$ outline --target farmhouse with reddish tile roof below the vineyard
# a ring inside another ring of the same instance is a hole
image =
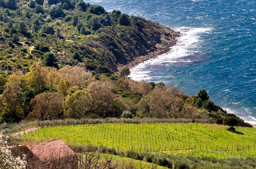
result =
[[[26,155],[27,168],[30,169],[77,169],[77,154],[61,139],[33,145],[8,147],[15,157]]]

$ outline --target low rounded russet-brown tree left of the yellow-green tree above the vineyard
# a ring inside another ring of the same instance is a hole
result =
[[[29,118],[38,120],[59,119],[63,115],[63,95],[58,93],[41,93],[30,101],[33,109]]]

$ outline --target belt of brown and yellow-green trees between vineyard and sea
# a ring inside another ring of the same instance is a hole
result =
[[[178,86],[137,82],[126,76],[98,74],[82,65],[56,70],[35,62],[26,74],[0,76],[0,123],[137,116],[252,127],[215,105],[204,89],[188,97]]]

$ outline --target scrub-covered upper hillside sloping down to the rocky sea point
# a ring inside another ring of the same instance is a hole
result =
[[[2,73],[27,72],[39,60],[58,69],[83,63],[113,72],[117,64],[173,45],[177,36],[158,23],[78,0],[0,1]]]

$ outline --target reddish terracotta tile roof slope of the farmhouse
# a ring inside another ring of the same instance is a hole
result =
[[[49,161],[76,155],[75,152],[61,139],[27,145],[26,147],[41,161]]]

